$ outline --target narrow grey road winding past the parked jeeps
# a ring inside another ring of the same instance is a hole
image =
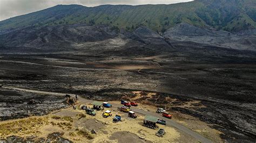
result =
[[[35,90],[35,89],[24,89],[24,88],[17,88],[17,87],[8,87],[8,86],[3,86],[2,88],[6,88],[6,89],[16,89],[16,90],[22,90],[22,91],[27,91],[27,92],[35,92],[38,94],[50,94],[50,95],[66,95],[65,93],[59,93],[59,92],[49,92],[49,91],[41,91],[41,90]],[[75,96],[73,94],[69,94],[71,96]],[[78,96],[79,101],[82,103],[91,103],[93,102],[92,100],[89,99],[85,99],[82,96]],[[120,104],[112,104],[112,108],[117,108],[118,106],[120,106]],[[151,116],[156,116],[161,118],[161,116],[158,113],[155,112],[149,112],[149,111],[144,111],[138,108],[132,108],[133,111],[140,113],[142,115],[151,115]],[[175,120],[171,120],[171,119],[165,119],[166,120],[166,125],[167,126],[172,126],[177,128],[179,131],[184,132],[188,135],[191,135],[193,138],[196,138],[198,141],[200,142],[212,142],[210,139],[207,139],[205,137],[203,137],[203,135],[194,132],[192,130],[190,130],[189,128],[178,124]]]

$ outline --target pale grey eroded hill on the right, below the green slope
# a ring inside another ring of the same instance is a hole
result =
[[[167,30],[165,37],[171,40],[191,41],[219,47],[256,50],[256,30],[245,30],[237,33],[215,31],[181,23]]]

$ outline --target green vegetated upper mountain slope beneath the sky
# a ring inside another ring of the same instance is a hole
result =
[[[198,0],[170,5],[57,5],[0,22],[0,30],[23,26],[110,24],[126,30],[145,25],[154,31],[186,22],[199,27],[239,31],[256,27],[254,0]]]

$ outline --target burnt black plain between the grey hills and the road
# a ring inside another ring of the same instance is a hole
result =
[[[255,137],[254,73],[256,69],[253,63],[242,63],[240,60],[237,63],[213,64],[203,61],[194,63],[189,60],[184,61],[186,57],[171,55],[170,57],[165,55],[152,61],[138,60],[134,57],[71,54],[2,55],[0,84],[70,92],[93,99],[116,100],[123,95],[129,95],[132,90],[164,92],[163,98],[165,96],[181,99],[196,98],[200,99],[207,108],[194,108],[193,110],[201,112],[200,115],[194,116],[219,125],[215,128],[227,133],[224,136],[225,139],[230,139],[228,135],[242,138],[242,141]],[[180,59],[183,60],[180,61]],[[67,60],[70,62],[62,62]],[[156,63],[159,63],[160,67]],[[149,65],[154,68],[141,69],[139,72],[139,69],[117,69],[118,66],[129,65]],[[10,94],[6,94],[5,91],[3,95],[9,98]],[[39,101],[55,99],[53,97],[42,99],[35,95],[32,98]],[[16,99],[1,102],[12,105],[17,104]],[[160,99],[157,102],[165,104]],[[23,105],[21,106],[24,108]],[[44,108],[45,105],[41,107],[42,115],[49,110]],[[173,108],[173,110],[177,109]],[[193,115],[189,110],[183,112]],[[20,116],[17,115],[17,117]]]

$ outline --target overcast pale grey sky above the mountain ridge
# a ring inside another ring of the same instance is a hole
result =
[[[172,4],[192,0],[0,0],[0,20],[43,10],[58,4],[97,6],[103,4]]]

